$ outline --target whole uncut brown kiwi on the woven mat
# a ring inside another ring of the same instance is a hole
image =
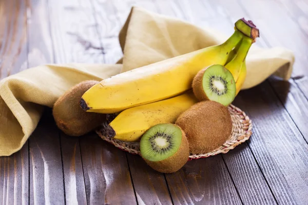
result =
[[[183,112],[176,125],[186,133],[192,154],[204,154],[219,148],[232,133],[232,119],[227,107],[210,100]]]

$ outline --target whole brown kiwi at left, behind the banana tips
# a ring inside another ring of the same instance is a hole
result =
[[[82,95],[99,81],[87,80],[75,85],[56,100],[53,117],[57,127],[70,136],[84,135],[106,120],[105,114],[85,112],[80,107]]]

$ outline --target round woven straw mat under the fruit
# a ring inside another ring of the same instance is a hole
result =
[[[230,135],[229,139],[220,148],[212,152],[204,154],[190,154],[188,160],[205,158],[220,153],[227,153],[229,150],[234,149],[236,146],[249,139],[249,137],[252,135],[252,120],[249,119],[249,117],[241,109],[233,105],[230,105],[228,107],[228,110],[231,115],[233,124],[232,134]],[[118,139],[106,137],[104,135],[104,128],[106,126],[107,124],[104,124],[100,129],[97,130],[98,135],[102,139],[110,142],[112,145],[121,150],[129,152],[131,154],[140,155],[139,142],[125,142]]]

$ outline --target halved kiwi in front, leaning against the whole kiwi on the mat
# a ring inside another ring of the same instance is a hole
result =
[[[181,128],[174,124],[158,124],[142,136],[140,152],[151,168],[162,173],[172,173],[185,165],[189,157],[189,146]]]

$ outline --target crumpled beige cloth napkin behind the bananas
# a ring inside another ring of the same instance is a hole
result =
[[[133,7],[119,34],[124,53],[119,64],[42,65],[0,81],[0,156],[20,150],[36,128],[44,106],[52,107],[73,85],[217,45],[227,37],[211,29],[204,30]],[[273,73],[287,80],[293,63],[294,55],[287,49],[260,49],[253,45],[246,59],[244,88],[261,83]]]

